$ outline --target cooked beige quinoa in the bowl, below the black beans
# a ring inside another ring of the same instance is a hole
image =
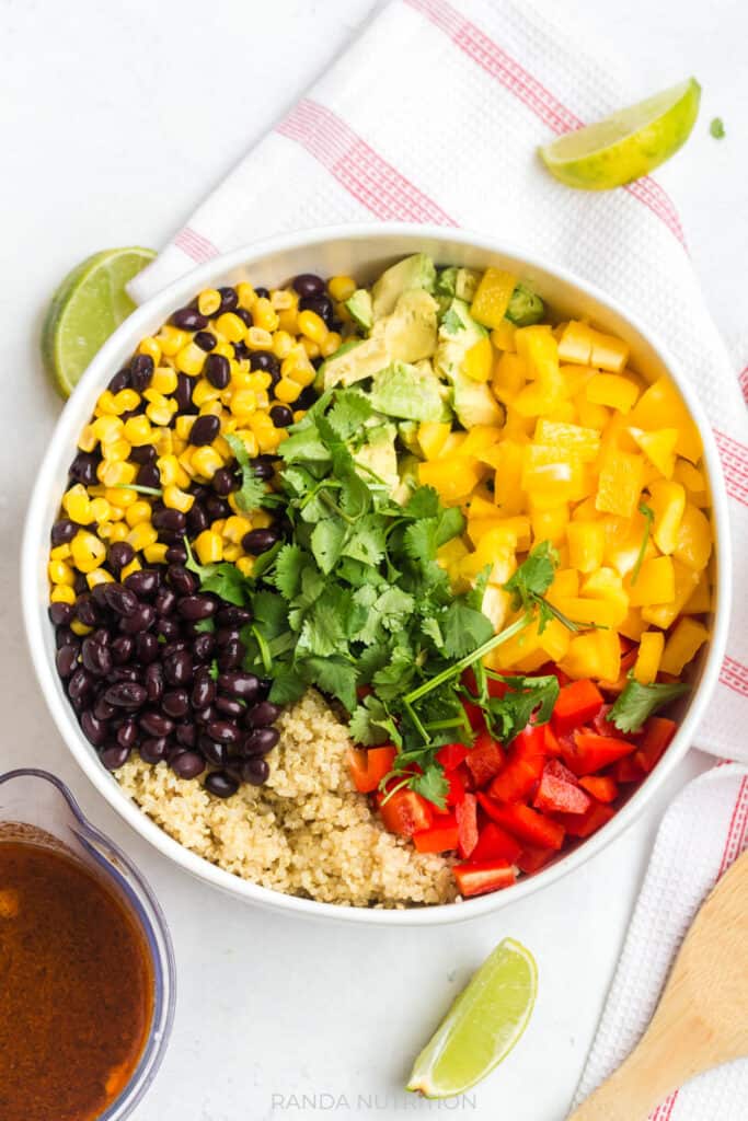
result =
[[[388,833],[353,788],[351,741],[317,693],[288,708],[278,729],[267,784],[225,800],[135,753],[117,778],[181,844],[265,888],[350,907],[454,899],[451,861]]]

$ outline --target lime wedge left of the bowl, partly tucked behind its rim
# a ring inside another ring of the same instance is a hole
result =
[[[153,261],[153,249],[104,249],[67,274],[52,297],[41,328],[41,358],[63,397],[135,304],[126,284]]]

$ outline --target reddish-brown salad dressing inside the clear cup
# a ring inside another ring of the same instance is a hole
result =
[[[0,840],[0,1119],[100,1117],[153,1002],[145,936],[107,883],[63,849]]]

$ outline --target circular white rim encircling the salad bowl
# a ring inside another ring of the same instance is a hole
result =
[[[578,288],[597,304],[602,305],[615,316],[622,319],[648,344],[667,369],[696,421],[702,436],[703,457],[712,499],[712,519],[715,527],[715,550],[718,552],[719,563],[717,566],[717,610],[712,621],[711,641],[705,655],[699,685],[690,698],[685,716],[678,724],[677,732],[665,756],[652,773],[643,780],[638,789],[618,810],[616,816],[600,831],[578,844],[565,856],[562,856],[556,863],[533,876],[523,877],[516,884],[505,891],[462,900],[459,904],[385,909],[352,907],[304,899],[297,896],[285,895],[275,889],[264,888],[250,880],[244,880],[211,863],[207,859],[192,852],[181,842],[169,836],[156,822],[148,817],[145,810],[140,809],[131,800],[118,785],[117,780],[92,756],[90,745],[74,719],[72,708],[63,703],[63,698],[58,692],[53,659],[48,658],[45,651],[45,632],[41,623],[43,614],[38,602],[38,563],[39,548],[47,548],[48,525],[45,518],[45,503],[47,493],[55,483],[54,461],[58,454],[58,450],[61,445],[67,445],[72,441],[75,441],[82,423],[80,414],[84,411],[82,402],[89,400],[91,390],[95,386],[104,386],[109,381],[112,372],[112,362],[117,356],[117,352],[123,348],[126,342],[130,349],[135,348],[141,336],[142,325],[157,315],[165,318],[172,308],[181,306],[187,298],[192,298],[195,291],[210,286],[214,279],[220,278],[232,269],[246,266],[255,267],[256,263],[260,263],[264,258],[271,254],[308,249],[331,241],[376,242],[397,237],[404,240],[413,240],[414,251],[417,251],[416,243],[418,241],[428,240],[445,244],[450,242],[453,244],[458,243],[468,248],[474,248],[479,252],[484,251],[499,257],[519,260],[528,271],[536,269],[541,272],[551,274],[563,284]],[[615,298],[603,293],[594,284],[581,278],[571,269],[552,259],[542,260],[537,257],[528,256],[520,247],[510,241],[472,230],[455,230],[433,224],[421,225],[400,222],[361,222],[350,225],[317,226],[315,229],[284,233],[278,237],[252,242],[230,252],[222,253],[191,269],[141,304],[117,328],[94,356],[57,420],[39,466],[28,506],[21,543],[20,573],[21,605],[26,638],[36,676],[53,721],[83,772],[99,794],[107,799],[110,806],[128,825],[149,841],[161,855],[172,860],[179,868],[191,872],[203,882],[229,892],[236,898],[259,904],[276,911],[303,915],[317,919],[389,926],[438,926],[465,921],[467,919],[499,910],[501,907],[517,902],[528,895],[538,891],[541,888],[550,886],[562,877],[570,874],[574,869],[590,860],[624,833],[639,816],[645,805],[662,787],[675,765],[683,758],[691,745],[693,733],[719,678],[719,670],[727,642],[731,600],[728,501],[717,443],[711,425],[701,402],[696,398],[695,390],[667,346],[640,322],[637,315],[625,309]]]

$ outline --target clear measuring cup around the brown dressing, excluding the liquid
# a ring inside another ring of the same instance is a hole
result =
[[[151,1022],[129,1082],[98,1119],[123,1121],[156,1076],[174,1019],[176,970],[163,911],[132,862],[91,825],[65,784],[48,771],[28,769],[0,775],[0,842],[3,837],[67,850],[107,881],[142,932],[154,976]]]

